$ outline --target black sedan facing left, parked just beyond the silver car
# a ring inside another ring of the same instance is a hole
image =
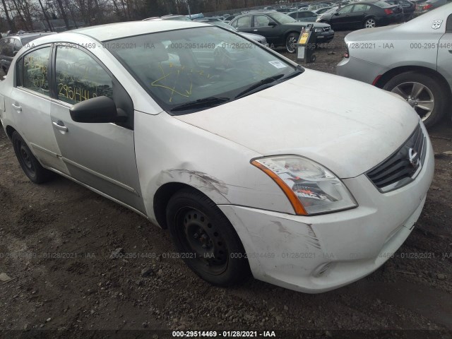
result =
[[[338,30],[374,28],[402,21],[402,7],[382,0],[366,0],[343,6],[335,13],[321,18],[319,22],[329,23],[333,30]]]

